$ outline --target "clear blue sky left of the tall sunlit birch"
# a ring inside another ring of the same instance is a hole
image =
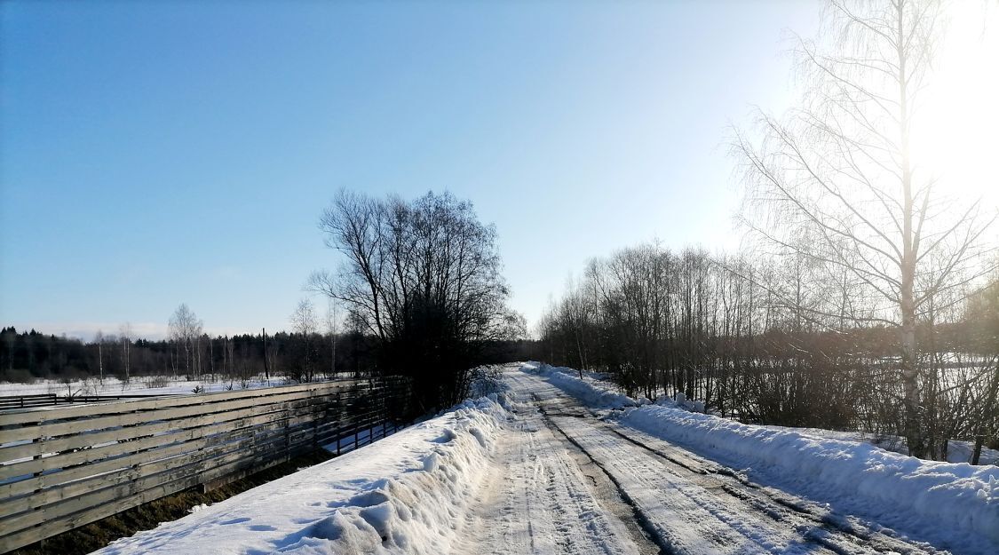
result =
[[[0,320],[288,327],[346,187],[472,200],[533,323],[592,256],[737,243],[726,126],[790,102],[819,9],[5,2]]]

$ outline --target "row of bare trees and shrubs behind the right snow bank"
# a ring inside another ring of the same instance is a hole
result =
[[[850,317],[856,291],[804,256],[656,244],[592,260],[544,312],[541,356],[629,394],[682,392],[747,422],[904,435],[897,329]],[[917,329],[931,456],[997,429],[999,278]],[[838,306],[838,309],[834,309]],[[993,443],[994,444],[994,443]]]

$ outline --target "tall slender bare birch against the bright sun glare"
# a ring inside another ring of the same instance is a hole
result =
[[[898,329],[904,433],[910,452],[924,456],[917,321],[936,295],[987,270],[982,240],[995,216],[942,195],[911,156],[939,2],[835,0],[827,15],[829,41],[798,40],[801,106],[782,119],[760,113],[759,145],[736,132],[743,221],[764,243],[826,265],[831,276],[845,271],[857,299],[851,322]],[[794,241],[801,236],[809,241]]]

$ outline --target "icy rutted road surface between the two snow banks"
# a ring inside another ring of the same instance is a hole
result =
[[[487,481],[472,515],[485,533],[456,554],[635,553],[639,545],[691,555],[936,552],[602,421],[536,375],[512,371],[506,380],[538,412],[521,408],[521,425],[500,437],[494,462],[506,478],[501,486]],[[629,511],[613,510],[614,500],[597,492],[599,479],[583,479],[580,459],[598,466]],[[635,537],[636,525],[645,537]]]

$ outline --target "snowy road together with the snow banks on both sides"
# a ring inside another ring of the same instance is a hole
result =
[[[738,424],[537,364],[487,390],[99,553],[999,552],[995,466]]]

